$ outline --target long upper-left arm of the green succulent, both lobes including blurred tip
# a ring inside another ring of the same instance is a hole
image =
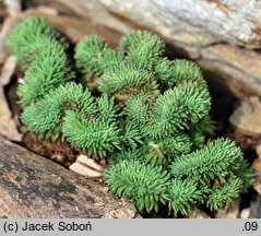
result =
[[[28,17],[8,35],[7,48],[26,69],[17,94],[22,105],[33,104],[74,78],[66,54],[68,43],[44,17]]]

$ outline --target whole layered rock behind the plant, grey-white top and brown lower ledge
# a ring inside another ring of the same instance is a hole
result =
[[[126,34],[149,28],[195,60],[239,98],[261,96],[261,2],[257,0],[28,0]],[[225,44],[224,44],[225,43]]]

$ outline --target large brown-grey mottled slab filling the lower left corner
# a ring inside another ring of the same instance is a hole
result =
[[[99,181],[0,138],[0,217],[139,217]]]

